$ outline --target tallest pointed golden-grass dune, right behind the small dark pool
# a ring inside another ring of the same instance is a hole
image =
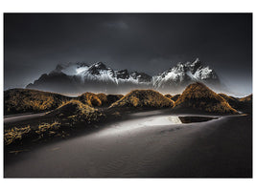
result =
[[[228,102],[202,83],[190,84],[175,101],[175,110],[238,114]]]

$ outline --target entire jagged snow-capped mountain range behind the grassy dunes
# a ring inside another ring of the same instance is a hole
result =
[[[81,94],[84,92],[105,92],[108,94],[127,93],[132,89],[155,89],[160,92],[178,92],[188,84],[200,81],[209,85],[221,84],[213,69],[201,64],[199,59],[190,63],[178,63],[173,68],[151,76],[145,73],[115,71],[102,62],[58,64],[49,74],[42,74],[30,89]]]

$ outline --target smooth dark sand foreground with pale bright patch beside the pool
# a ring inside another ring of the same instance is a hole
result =
[[[5,159],[4,176],[250,178],[251,116],[179,124],[159,111]],[[184,115],[178,115],[184,116]],[[169,122],[168,122],[169,121]],[[171,122],[170,122],[171,121]]]

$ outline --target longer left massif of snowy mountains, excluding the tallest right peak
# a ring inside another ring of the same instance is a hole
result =
[[[151,86],[151,75],[128,70],[114,71],[102,62],[58,64],[49,74],[42,74],[26,88],[79,94],[83,92],[121,93]]]

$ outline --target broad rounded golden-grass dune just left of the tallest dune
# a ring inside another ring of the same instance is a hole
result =
[[[146,108],[172,108],[175,102],[153,90],[134,90],[120,100],[114,102],[114,107],[146,107]]]

